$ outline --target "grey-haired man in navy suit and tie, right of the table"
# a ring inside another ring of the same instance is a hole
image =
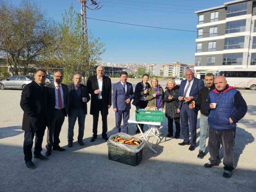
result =
[[[191,130],[192,143],[188,148],[190,151],[196,148],[196,123],[197,114],[199,106],[190,109],[189,104],[191,101],[197,101],[198,93],[201,88],[204,87],[203,80],[194,77],[194,72],[191,69],[186,71],[186,80],[181,81],[180,89],[178,91],[177,97],[180,100],[180,120],[181,120],[181,130],[184,141],[179,143],[179,145],[189,145],[189,129],[188,121]],[[186,98],[186,99],[185,99]],[[186,103],[185,103],[186,102]]]

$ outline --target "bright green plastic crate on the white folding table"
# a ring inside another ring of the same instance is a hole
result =
[[[162,111],[135,110],[136,121],[164,122],[165,116]]]

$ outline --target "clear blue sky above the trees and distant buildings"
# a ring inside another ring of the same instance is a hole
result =
[[[19,4],[20,1],[11,0],[12,4]],[[96,1],[98,2],[98,0]],[[160,3],[145,4],[137,2]],[[223,5],[223,2],[220,0],[102,0],[103,7],[97,11],[87,9],[87,17],[196,31],[197,16],[194,11]],[[41,8],[47,11],[49,17],[57,21],[62,20],[61,14],[65,9],[69,9],[71,3],[73,3],[74,9],[80,13],[81,4],[77,0],[40,1]],[[106,44],[104,47],[106,52],[101,56],[101,61],[121,64],[131,62],[136,64],[148,62],[162,64],[173,61],[193,64],[195,62],[196,33],[194,32],[145,28],[90,19],[87,20],[87,26],[94,37],[100,37],[100,42]]]

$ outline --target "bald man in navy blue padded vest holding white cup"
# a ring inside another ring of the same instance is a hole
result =
[[[224,149],[223,177],[230,178],[234,170],[234,145],[236,137],[236,123],[244,117],[247,105],[241,93],[228,85],[224,76],[214,79],[215,88],[209,93],[204,107],[210,112],[208,148],[210,162],[204,167],[219,166],[220,144]]]

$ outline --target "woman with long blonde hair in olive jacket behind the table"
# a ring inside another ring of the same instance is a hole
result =
[[[151,79],[151,87],[148,89],[146,100],[148,101],[148,107],[153,106],[159,111],[163,111],[164,89],[158,84],[158,79],[156,77],[152,77]],[[159,128],[160,126],[157,125],[155,127]],[[162,134],[160,131],[159,133]]]

